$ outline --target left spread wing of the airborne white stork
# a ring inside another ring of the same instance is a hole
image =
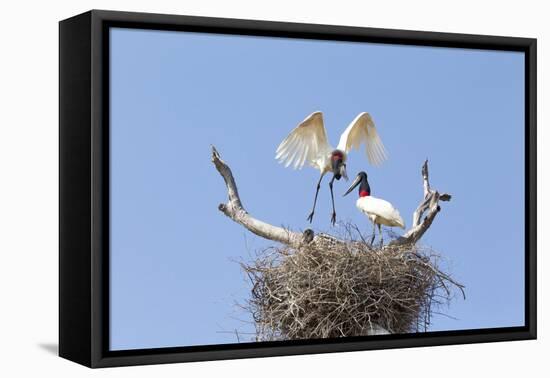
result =
[[[314,165],[321,154],[330,150],[323,124],[323,113],[311,113],[277,148],[275,159],[285,167],[301,169],[307,162]]]

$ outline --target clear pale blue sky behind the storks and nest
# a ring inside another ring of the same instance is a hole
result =
[[[235,260],[273,243],[217,210],[226,192],[210,145],[248,211],[302,230],[318,172],[285,169],[274,153],[316,110],[333,145],[359,112],[372,115],[389,160],[375,168],[354,151],[348,174],[366,170],[408,225],[424,159],[432,186],[453,194],[422,243],[467,299],[430,330],[523,325],[523,70],[515,52],[112,29],[111,349],[253,332],[235,306],[249,292]],[[370,233],[346,189],[336,182],[338,219]],[[326,179],[315,229],[338,232],[330,212]]]

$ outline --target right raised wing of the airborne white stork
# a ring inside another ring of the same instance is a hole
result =
[[[338,149],[348,153],[354,148],[359,149],[363,143],[371,164],[380,165],[388,158],[369,113],[360,113],[351,121],[340,137]]]

